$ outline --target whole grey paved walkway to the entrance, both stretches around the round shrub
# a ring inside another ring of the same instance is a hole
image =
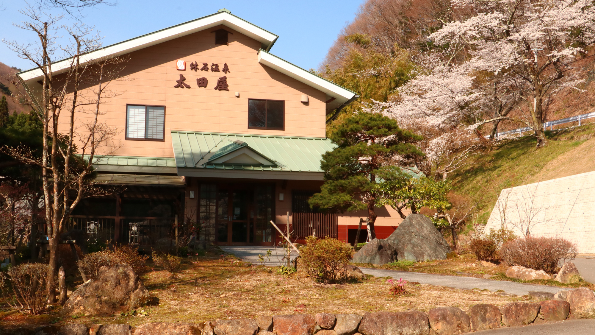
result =
[[[270,257],[270,260],[267,260],[265,262],[265,265],[280,265],[280,260],[283,258],[283,249],[275,247],[224,246],[221,247],[221,249],[228,253],[233,253],[242,260],[246,262],[251,262],[253,264],[259,264],[258,255],[265,255],[267,253],[267,250],[271,250],[273,255]],[[295,256],[296,253],[292,253],[292,257]],[[529,291],[546,291],[556,293],[560,290],[565,290],[562,287],[536,284],[522,284],[515,283],[513,281],[498,281],[483,278],[422,274],[419,272],[393,271],[371,268],[362,268],[361,270],[366,274],[375,275],[377,277],[403,278],[407,281],[417,281],[421,284],[455,287],[457,289],[488,289],[490,291],[503,290],[506,293],[517,294],[519,296],[522,296],[523,294],[528,294]]]

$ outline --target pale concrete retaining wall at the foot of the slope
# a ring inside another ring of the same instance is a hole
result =
[[[561,237],[595,254],[595,171],[502,190],[484,232],[503,222],[518,236]]]

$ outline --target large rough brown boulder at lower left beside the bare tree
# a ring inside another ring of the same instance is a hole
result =
[[[111,315],[148,302],[149,291],[130,265],[102,266],[95,280],[79,286],[66,300],[61,315]]]

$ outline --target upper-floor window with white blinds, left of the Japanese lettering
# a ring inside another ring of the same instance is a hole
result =
[[[164,133],[164,106],[126,106],[126,139],[163,141]]]

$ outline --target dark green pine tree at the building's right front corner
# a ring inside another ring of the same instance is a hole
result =
[[[421,137],[380,113],[359,113],[345,119],[329,138],[337,147],[322,155],[325,182],[309,204],[340,212],[367,209],[369,237],[375,238],[376,174],[396,159],[407,162],[423,156],[412,144]]]

